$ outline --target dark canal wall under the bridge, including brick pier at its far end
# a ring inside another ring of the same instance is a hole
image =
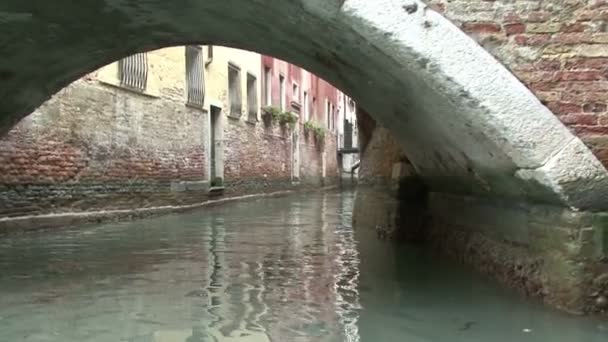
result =
[[[606,214],[435,192],[404,161],[390,133],[361,116],[358,227],[374,229],[379,239],[424,243],[562,310],[608,312]]]

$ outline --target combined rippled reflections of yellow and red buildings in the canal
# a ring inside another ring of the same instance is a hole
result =
[[[358,342],[358,255],[348,224],[328,224],[340,210],[327,196],[279,206],[256,232],[214,218],[193,327],[153,341]]]

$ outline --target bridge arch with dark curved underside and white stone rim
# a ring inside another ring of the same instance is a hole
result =
[[[434,192],[608,208],[608,173],[585,145],[420,1],[4,0],[0,32],[3,134],[104,64],[218,44],[288,60],[343,89]]]

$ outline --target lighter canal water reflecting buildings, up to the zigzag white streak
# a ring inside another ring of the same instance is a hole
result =
[[[316,194],[4,237],[2,340],[358,341],[351,207]]]

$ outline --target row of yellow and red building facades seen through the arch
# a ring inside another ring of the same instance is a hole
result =
[[[336,184],[345,98],[301,68],[244,50],[182,46],[124,58],[0,140],[0,215],[10,225]],[[264,120],[269,108],[295,122]]]

